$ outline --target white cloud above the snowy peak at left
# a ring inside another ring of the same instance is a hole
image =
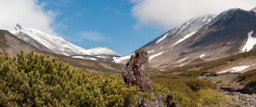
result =
[[[39,4],[37,0],[0,0],[0,29],[11,31],[16,23],[20,23],[58,36],[55,32],[58,28],[54,26],[59,24],[55,22],[58,12],[45,11],[46,5],[44,2]]]

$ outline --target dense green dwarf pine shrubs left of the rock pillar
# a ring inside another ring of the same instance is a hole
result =
[[[120,107],[136,104],[144,95],[125,85],[122,76],[71,69],[68,64],[23,51],[0,56],[1,106]]]

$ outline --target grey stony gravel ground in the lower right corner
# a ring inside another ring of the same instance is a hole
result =
[[[238,74],[215,74],[215,76],[203,75],[198,76],[200,79],[209,80],[216,83],[218,80],[222,80],[222,83],[217,83],[218,91],[225,93],[228,97],[232,99],[234,104],[227,105],[227,107],[232,107],[236,104],[242,107],[256,107],[256,94],[251,94],[251,90],[244,87],[243,84],[234,81]],[[250,93],[250,94],[248,94]],[[237,102],[236,102],[237,101]]]

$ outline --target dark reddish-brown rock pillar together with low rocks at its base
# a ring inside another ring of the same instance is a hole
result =
[[[140,88],[143,93],[152,93],[152,83],[149,79],[148,68],[148,52],[145,49],[139,49],[135,52],[135,56],[131,56],[126,64],[125,70],[122,72],[125,84],[135,85]],[[167,99],[162,94],[155,93],[153,100],[146,98],[138,99],[138,107],[179,107],[179,103],[173,100],[173,94],[170,93]]]

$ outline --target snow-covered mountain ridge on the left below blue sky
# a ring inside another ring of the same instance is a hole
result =
[[[113,55],[121,56],[109,47],[93,47],[92,49],[84,49],[76,46],[63,38],[49,35],[37,29],[17,24],[11,31],[18,38],[30,43],[38,49],[53,52],[61,55]]]

